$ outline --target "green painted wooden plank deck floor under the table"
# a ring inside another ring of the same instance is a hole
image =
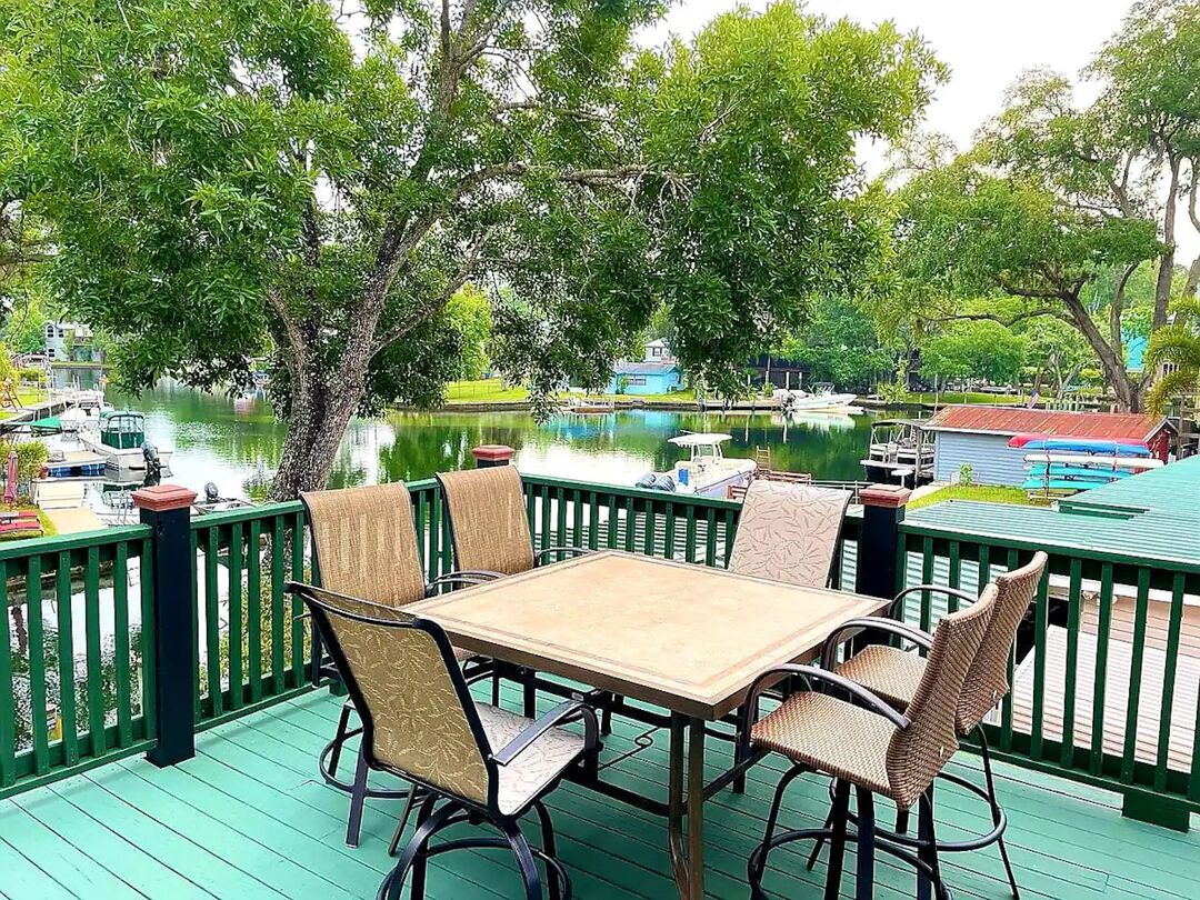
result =
[[[505,697],[516,703],[516,695]],[[25,898],[373,898],[389,869],[386,841],[396,802],[370,802],[358,850],[344,846],[347,798],[316,772],[341,701],[322,691],[198,736],[196,758],[156,769],[130,757],[0,802],[0,895]],[[544,704],[548,706],[548,701]],[[642,726],[619,721],[605,761],[636,749]],[[727,746],[713,742],[712,772]],[[955,766],[974,768],[960,754]],[[751,770],[745,796],[725,792],[706,806],[708,893],[744,898],[745,859],[760,839],[778,760]],[[1124,820],[1115,796],[1001,766],[1013,862],[1026,898],[1195,898],[1200,832],[1178,834]],[[665,794],[665,734],[606,773]],[[982,806],[943,791],[943,836],[962,833]],[[550,797],[560,857],[576,896],[670,900],[674,888],[662,820],[564,784]],[[793,786],[785,827],[817,826],[824,784]],[[530,835],[535,830],[529,832]],[[772,857],[773,896],[818,898],[823,864],[804,870],[794,848]],[[995,850],[946,859],[958,898],[1004,898]],[[850,866],[853,871],[853,866]],[[883,859],[877,898],[913,895],[910,871]],[[511,898],[517,874],[503,853],[457,852],[431,862],[434,900]],[[852,876],[844,883],[852,896]]]

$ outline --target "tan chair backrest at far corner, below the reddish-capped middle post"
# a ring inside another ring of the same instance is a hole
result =
[[[456,569],[502,575],[533,569],[533,536],[515,466],[442,472],[438,481],[450,512]]]

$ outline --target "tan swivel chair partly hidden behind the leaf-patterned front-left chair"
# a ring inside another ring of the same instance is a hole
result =
[[[416,550],[416,529],[413,526],[413,504],[408,488],[402,484],[350,487],[342,491],[301,493],[312,529],[314,568],[320,583],[329,590],[362,598],[386,607],[402,607],[432,596],[446,587],[469,586],[484,580],[462,572],[449,572],[432,582],[425,581],[421,558]],[[316,635],[314,635],[316,637]],[[314,640],[313,644],[319,641]],[[319,656],[319,649],[316,655]],[[463,665],[469,665],[472,679],[486,676],[486,662],[464,650],[456,652]],[[319,659],[313,665],[313,682],[322,677],[340,676]],[[353,782],[337,776],[342,748],[361,733],[350,728],[353,704],[347,701],[337,722],[337,733],[320,754],[318,767],[325,781],[350,794],[350,815],[346,842],[359,842],[362,803],[367,797],[404,799],[408,791],[377,790],[367,786],[367,767],[359,756]]]

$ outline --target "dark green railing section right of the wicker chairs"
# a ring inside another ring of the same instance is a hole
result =
[[[1181,642],[1200,566],[910,520],[900,527],[898,569],[907,584],[976,592],[1038,550],[1049,553],[1048,571],[989,739],[1014,762],[1121,792],[1132,816],[1186,828],[1200,811],[1200,704],[1195,655],[1181,654]],[[929,630],[956,607],[953,596],[923,592],[906,618]],[[1193,660],[1186,677],[1184,659]]]

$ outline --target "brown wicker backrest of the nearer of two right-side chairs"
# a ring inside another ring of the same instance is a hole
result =
[[[979,652],[996,593],[996,586],[989,584],[978,602],[937,624],[925,673],[906,710],[911,724],[898,730],[888,745],[888,781],[893,799],[902,808],[917,802],[959,749],[954,727],[959,696]]]

